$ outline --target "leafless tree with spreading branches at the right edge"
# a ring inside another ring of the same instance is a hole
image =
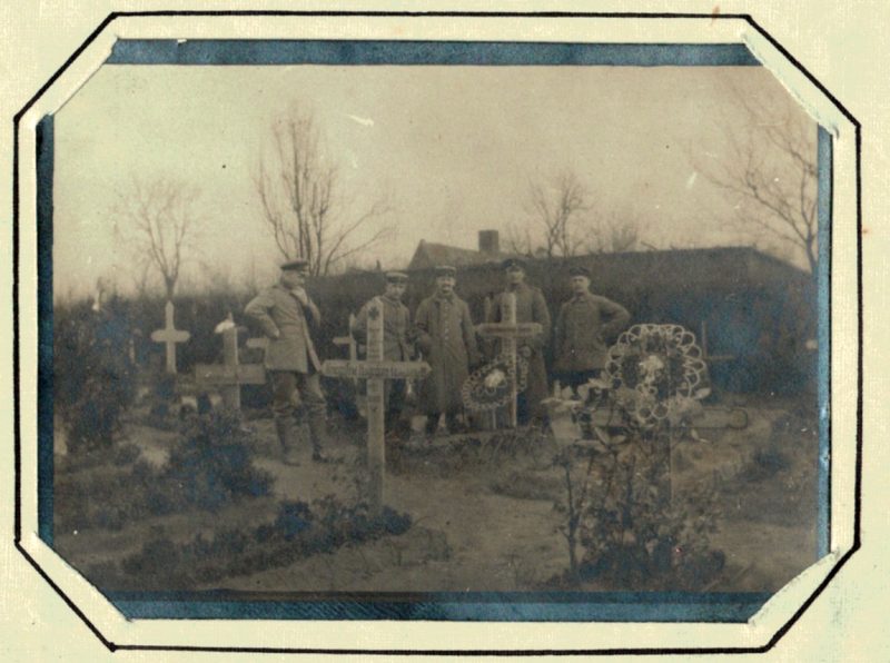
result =
[[[691,160],[704,179],[725,191],[734,205],[734,224],[761,245],[799,251],[815,271],[817,125],[787,105],[753,105],[730,88],[745,121],[725,130],[731,157],[716,162]]]

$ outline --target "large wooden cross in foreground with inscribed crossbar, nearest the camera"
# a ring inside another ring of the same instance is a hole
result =
[[[367,360],[328,359],[322,365],[322,373],[328,377],[368,380],[368,473],[370,475],[370,508],[379,514],[385,504],[384,469],[386,452],[384,436],[384,382],[387,379],[408,379],[423,377],[429,373],[425,362],[389,362],[383,357],[384,306],[378,297],[370,300],[367,321]]]

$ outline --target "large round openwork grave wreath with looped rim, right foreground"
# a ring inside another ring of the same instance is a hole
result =
[[[702,354],[685,327],[634,325],[609,348],[604,378],[631,423],[651,429],[710,393]]]

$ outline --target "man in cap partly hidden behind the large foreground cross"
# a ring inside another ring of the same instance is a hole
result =
[[[411,313],[402,303],[408,287],[408,275],[400,271],[386,274],[386,289],[380,297],[375,297],[383,303],[383,357],[392,362],[409,362],[414,358],[414,329],[411,326]],[[372,299],[358,311],[353,326],[353,336],[359,344],[367,343],[368,307]],[[406,380],[386,380],[384,404],[386,418],[384,429],[387,436],[402,437],[411,432],[411,426],[402,420],[402,410],[405,407]]]

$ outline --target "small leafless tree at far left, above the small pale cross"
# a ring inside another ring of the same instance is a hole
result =
[[[112,208],[115,235],[130,249],[137,287],[145,289],[154,271],[167,299],[172,299],[182,267],[198,254],[204,222],[198,198],[198,189],[187,182],[139,177],[118,196]]]

